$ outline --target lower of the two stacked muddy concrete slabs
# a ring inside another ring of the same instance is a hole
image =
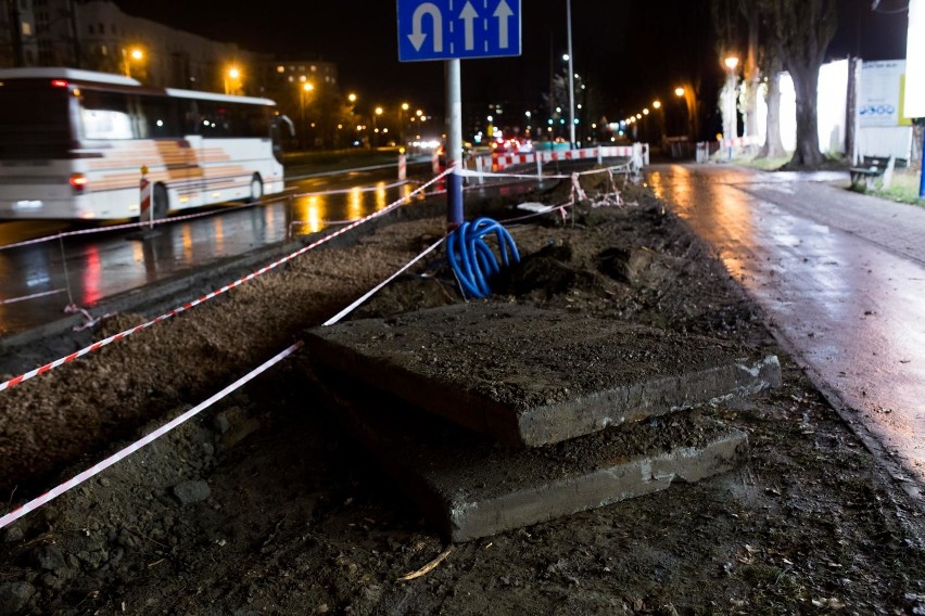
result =
[[[674,413],[537,448],[498,446],[341,374],[318,394],[449,541],[469,541],[693,483],[747,458],[747,437]]]

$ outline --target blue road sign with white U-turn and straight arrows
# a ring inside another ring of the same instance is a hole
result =
[[[398,61],[520,55],[520,0],[397,0]]]

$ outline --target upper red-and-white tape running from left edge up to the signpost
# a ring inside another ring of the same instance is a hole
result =
[[[193,308],[194,306],[199,306],[200,304],[207,301],[208,299],[212,299],[213,297],[221,295],[223,293],[226,293],[227,291],[230,291],[230,290],[235,288],[236,286],[240,286],[241,284],[243,284],[248,281],[251,281],[251,280],[257,278],[258,275],[263,275],[264,273],[279,267],[280,265],[282,265],[287,261],[290,261],[290,260],[294,259],[295,257],[303,255],[304,253],[307,253],[308,251],[312,251],[312,249],[320,246],[321,244],[324,244],[326,242],[330,242],[331,240],[333,240],[338,235],[342,235],[343,233],[346,233],[347,231],[355,229],[359,224],[363,224],[364,222],[371,220],[372,218],[377,218],[379,216],[383,216],[384,214],[388,214],[389,211],[392,211],[394,208],[396,208],[398,205],[404,203],[406,200],[410,198],[415,194],[415,192],[423,191],[429,185],[431,185],[432,183],[434,183],[434,182],[439,181],[441,178],[443,178],[443,176],[445,176],[447,172],[448,171],[444,171],[440,176],[436,176],[435,178],[431,179],[429,182],[422,184],[416,191],[411,192],[407,196],[400,198],[398,201],[393,202],[392,204],[385,206],[383,209],[380,209],[379,211],[375,211],[375,213],[372,213],[369,216],[366,216],[364,218],[357,219],[355,222],[353,222],[353,223],[351,223],[351,224],[349,224],[349,226],[346,226],[342,229],[339,229],[338,231],[331,233],[330,235],[326,235],[326,236],[321,238],[320,240],[317,240],[316,242],[307,244],[307,245],[303,246],[302,248],[295,251],[294,253],[291,253],[290,255],[282,257],[281,259],[278,259],[278,260],[271,262],[268,266],[264,266],[261,269],[258,269],[257,271],[249,273],[244,278],[240,278],[240,279],[236,280],[235,282],[232,282],[230,284],[226,284],[225,286],[223,286],[220,288],[217,288],[217,290],[215,290],[215,291],[213,291],[213,292],[211,292],[206,295],[203,295],[199,299],[188,301],[187,304],[183,304],[182,306],[174,308],[169,312],[161,315],[156,319],[148,321],[147,323],[136,325],[135,328],[130,328],[130,329],[125,330],[123,332],[119,332],[115,335],[112,335],[107,338],[104,338],[102,341],[98,341],[98,342],[96,342],[96,343],[93,343],[89,346],[81,348],[78,351],[72,352],[71,355],[68,355],[66,357],[62,357],[62,358],[56,359],[56,360],[54,360],[50,363],[46,363],[45,365],[39,367],[35,370],[30,370],[29,372],[26,372],[25,374],[21,374],[21,375],[15,376],[15,377],[13,377],[13,378],[4,382],[4,383],[0,383],[0,392],[15,387],[16,385],[20,385],[21,383],[28,381],[29,378],[38,376],[39,374],[45,374],[46,372],[49,372],[50,370],[59,368],[59,367],[61,367],[65,363],[69,363],[69,362],[74,361],[75,359],[79,359],[79,358],[84,357],[85,355],[87,355],[89,352],[92,352],[94,350],[99,350],[102,347],[104,347],[104,346],[106,346],[111,343],[126,338],[126,337],[130,336],[131,334],[134,334],[136,332],[139,332],[141,330],[150,328],[151,325],[154,325],[155,323],[160,323],[161,321],[166,321],[167,319],[176,317],[180,312],[183,312],[183,311],[186,311],[190,308]]]

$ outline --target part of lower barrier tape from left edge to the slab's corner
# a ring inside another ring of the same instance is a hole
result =
[[[145,445],[153,442],[155,439],[167,434],[168,432],[170,432],[172,429],[174,429],[178,425],[188,421],[190,418],[192,418],[192,416],[199,414],[200,412],[204,411],[205,409],[207,409],[208,407],[211,407],[212,405],[214,405],[215,402],[217,402],[221,398],[226,397],[228,394],[240,388],[242,385],[244,385],[249,381],[253,380],[255,376],[262,374],[263,372],[266,372],[271,367],[276,365],[277,363],[279,363],[280,361],[282,361],[287,357],[291,356],[293,352],[295,352],[296,350],[299,350],[299,348],[302,347],[302,344],[303,343],[301,341],[295,343],[294,345],[292,345],[288,349],[283,350],[282,352],[278,354],[277,356],[275,356],[273,359],[264,362],[263,364],[261,364],[255,370],[245,374],[244,376],[242,376],[241,378],[239,378],[238,381],[236,381],[231,385],[229,385],[226,388],[224,388],[223,390],[218,392],[217,394],[215,394],[214,396],[212,396],[211,398],[208,398],[204,402],[198,405],[197,407],[193,407],[192,409],[190,409],[189,411],[179,415],[175,420],[164,424],[163,426],[159,427],[157,429],[155,429],[151,434],[144,436],[143,438],[141,438],[139,440],[136,440],[135,442],[132,442],[128,447],[117,451],[116,453],[110,455],[105,460],[102,460],[101,462],[99,462],[99,463],[94,464],[93,466],[87,469],[83,473],[75,475],[71,479],[68,479],[68,480],[64,482],[63,484],[52,488],[51,490],[47,491],[46,493],[41,495],[40,497],[28,501],[27,503],[23,504],[22,506],[11,511],[10,513],[8,513],[7,515],[4,515],[2,517],[0,517],[0,528],[3,528],[4,526],[12,524],[13,522],[20,519],[21,517],[23,517],[27,513],[31,513],[33,511],[37,510],[38,508],[42,506],[43,504],[47,504],[51,500],[60,497],[61,495],[63,495],[67,490],[71,490],[71,489],[79,486],[80,484],[83,484],[87,479],[93,477],[94,475],[98,475],[99,473],[101,473],[105,469],[109,469],[110,466],[112,466],[113,464],[118,462],[119,460],[123,460],[123,459],[127,458],[128,455],[135,453],[136,451],[138,451],[139,449],[144,447]]]

